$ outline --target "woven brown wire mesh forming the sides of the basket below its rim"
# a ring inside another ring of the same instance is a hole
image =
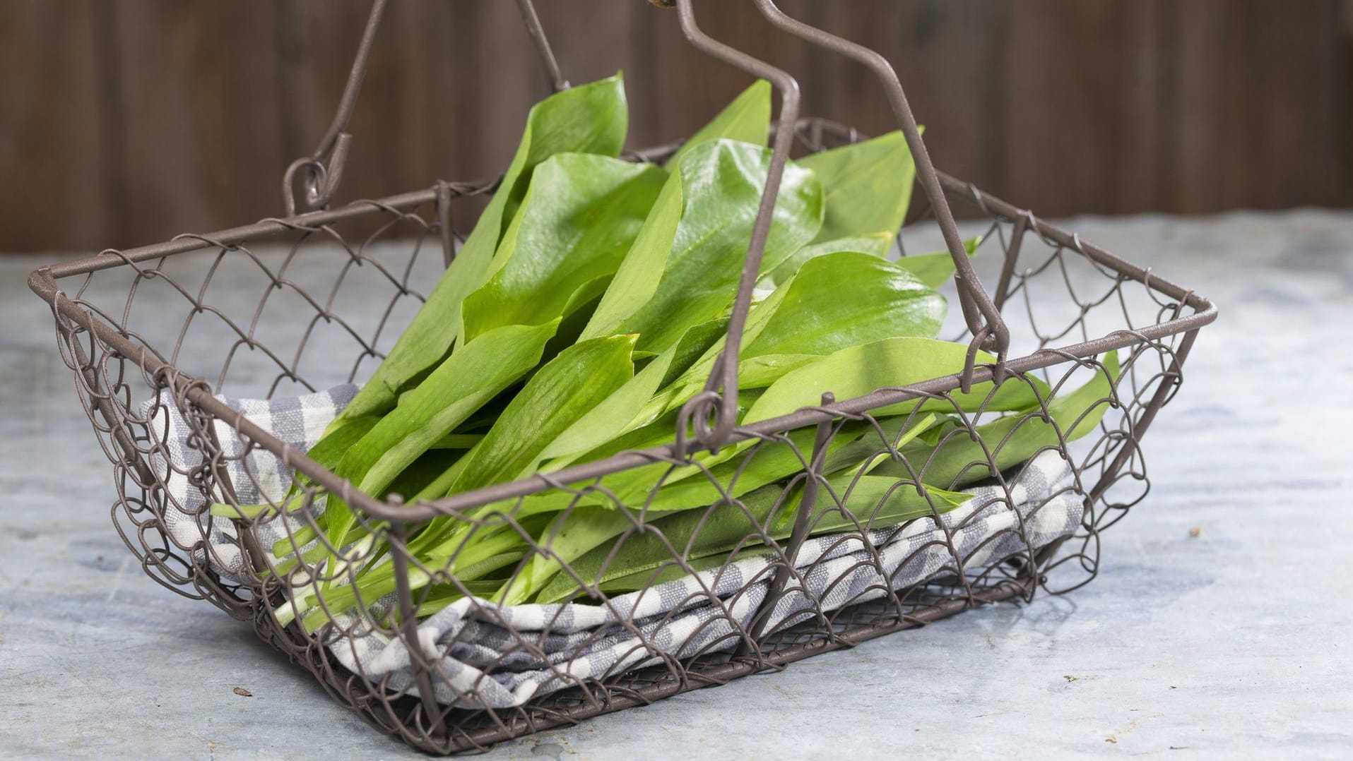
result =
[[[852,131],[824,124],[805,120],[800,126],[804,150],[821,150],[856,138]],[[632,158],[660,154],[635,154]],[[467,223],[472,220],[474,196],[491,189],[491,182],[449,187],[456,210],[449,218],[461,227],[460,232],[468,230]],[[372,633],[388,638],[403,635],[400,611],[390,599],[394,581],[383,589],[384,595],[359,593],[342,604],[321,596],[319,607],[333,620],[314,634],[296,623],[283,626],[273,608],[317,581],[350,583],[357,568],[377,558],[375,547],[382,545],[390,547],[396,561],[396,577],[419,580],[413,591],[414,603],[430,604],[438,595],[474,596],[478,588],[467,584],[457,569],[467,561],[461,553],[471,553],[479,538],[495,533],[515,535],[528,542],[529,554],[557,557],[551,534],[543,533],[522,510],[534,495],[499,503],[495,510],[478,515],[457,514],[455,520],[463,524],[464,541],[451,557],[433,564],[405,550],[403,529],[354,510],[359,535],[365,534],[372,543],[348,547],[350,562],[341,568],[306,560],[306,551],[317,546],[329,553],[344,550],[326,546],[327,538],[317,522],[323,495],[314,487],[300,489],[298,501],[290,506],[284,518],[260,520],[252,529],[214,516],[203,507],[212,501],[237,504],[235,492],[241,485],[276,493],[276,474],[257,473],[249,466],[250,457],[269,449],[271,443],[245,435],[238,430],[238,419],[207,412],[189,395],[207,389],[237,397],[294,396],[369,374],[453,255],[453,250],[445,251],[444,241],[451,241],[455,249],[460,239],[459,232],[441,228],[436,203],[426,199],[400,205],[360,201],[354,204],[359,212],[340,223],[307,226],[296,218],[275,220],[277,230],[257,241],[188,237],[199,246],[184,255],[133,261],[118,251],[107,251],[106,255],[120,257],[122,262],[66,278],[61,289],[78,310],[53,311],[62,358],[73,370],[81,406],[114,464],[118,488],[114,522],[142,568],[179,593],[211,600],[230,615],[252,620],[262,639],[310,669],[337,702],[359,711],[382,731],[417,747],[445,753],[483,747],[685,689],[723,684],[766,668],[783,668],[794,660],[919,626],[981,602],[1028,599],[1038,588],[1073,589],[1097,573],[1100,533],[1122,519],[1149,491],[1141,450],[1143,420],[1149,423],[1183,380],[1176,351],[1188,334],[1147,338],[1141,331],[1180,318],[1189,307],[1153,288],[1150,277],[1142,283],[1096,261],[1078,238],[1068,243],[1038,232],[1032,215],[993,211],[990,199],[976,188],[950,185],[947,191],[955,208],[966,207],[985,218],[973,226],[976,232],[984,234],[974,264],[985,283],[1001,284],[996,296],[1011,323],[1012,357],[1040,355],[1045,360],[1045,366],[1016,373],[1001,385],[1028,387],[1040,396],[1039,408],[1009,426],[1003,438],[992,439],[984,438],[982,431],[990,428],[982,426],[999,419],[1000,410],[984,404],[976,412],[965,411],[954,392],[919,395],[924,399],[917,401],[925,401],[927,408],[951,412],[962,420],[942,431],[939,446],[967,442],[965,446],[973,453],[962,466],[943,470],[940,481],[936,481],[940,468],[935,462],[917,460],[896,443],[900,433],[921,420],[923,407],[901,418],[875,414],[875,410],[833,414],[820,426],[833,435],[855,431],[858,441],[870,442],[874,454],[894,465],[896,493],[908,488],[916,493],[920,481],[948,488],[961,481],[971,483],[970,476],[978,476],[997,493],[982,507],[1009,514],[1009,526],[988,537],[980,547],[967,550],[962,550],[953,537],[962,526],[948,527],[939,539],[902,558],[892,572],[879,553],[870,549],[859,565],[877,580],[859,588],[844,604],[828,608],[821,597],[798,593],[798,607],[790,615],[775,622],[754,616],[748,623],[735,608],[748,604],[754,588],[769,589],[767,603],[754,606],[767,610],[771,603],[792,597],[794,589],[805,589],[804,580],[816,568],[796,566],[793,547],[783,533],[771,531],[764,515],[752,515],[747,508],[737,491],[737,478],[758,464],[777,457],[797,462],[798,472],[778,481],[779,496],[771,508],[771,515],[782,523],[793,518],[805,485],[815,480],[821,487],[815,519],[836,520],[835,530],[856,542],[875,529],[904,533],[919,523],[939,522],[924,515],[901,523],[881,520],[874,524],[869,516],[878,514],[892,496],[863,511],[851,504],[854,484],[865,472],[847,473],[851,477],[842,489],[842,481],[829,481],[820,469],[815,470],[815,462],[827,456],[813,443],[813,427],[760,433],[732,461],[716,468],[702,466],[695,454],[651,454],[643,469],[649,473],[652,488],[643,500],[624,499],[605,478],[582,484],[538,478],[537,491],[570,495],[566,514],[605,506],[628,520],[628,527],[609,545],[612,556],[621,554],[632,542],[662,547],[667,560],[649,569],[649,580],[630,584],[637,591],[651,588],[660,579],[717,569],[740,553],[762,553],[771,562],[758,579],[743,580],[739,593],[721,596],[706,585],[676,604],[676,608],[712,610],[705,626],[724,627],[724,637],[687,652],[681,642],[655,641],[644,635],[636,622],[622,620],[622,626],[636,634],[635,649],[645,656],[641,668],[626,666],[601,679],[576,680],[567,673],[567,660],[556,661],[553,668],[570,687],[510,708],[467,708],[480,697],[475,685],[457,688],[456,703],[432,700],[429,687],[449,683],[451,674],[438,673],[436,662],[422,662],[422,658],[415,658],[413,684],[395,684],[387,677],[365,674],[360,668],[349,670],[338,665],[330,650],[334,642],[360,641]],[[925,218],[927,211],[919,210],[919,220]],[[912,232],[923,227],[928,226],[912,224],[904,231],[900,239],[904,253],[942,249],[927,247],[932,238]],[[951,312],[957,312],[953,295],[950,301]],[[87,318],[72,318],[73,314]],[[152,369],[152,362],[133,360],[126,350],[110,345],[96,335],[95,320],[111,326],[164,366]],[[951,323],[947,330],[953,330],[953,337],[966,341],[966,335],[959,335],[962,323],[955,322],[954,315]],[[1104,354],[1076,355],[1058,349],[1112,334],[1131,338],[1118,354],[1122,370],[1116,380]],[[1093,430],[1088,435],[1069,441],[1066,430],[1053,420],[1050,406],[1092,378],[1108,381],[1107,393],[1096,404],[1103,418],[1091,423]],[[1051,393],[1039,389],[1051,389]],[[192,466],[170,457],[164,427],[169,406],[193,431],[191,446],[200,453],[200,461]],[[1045,431],[1042,447],[1059,451],[1070,464],[1068,489],[1084,506],[1076,531],[1050,545],[1035,543],[1026,526],[1042,504],[1016,510],[1012,485],[1022,464],[1001,457],[1009,438],[1022,428]],[[223,446],[223,439],[238,441],[238,446]],[[676,480],[693,468],[698,472],[686,481]],[[239,472],[252,483],[234,483],[238,476],[233,480],[229,473]],[[668,524],[649,515],[648,506],[666,489],[691,481],[709,484],[717,497],[710,501],[712,507],[695,511],[701,515],[694,527],[668,537],[663,530]],[[203,496],[198,500],[203,504],[189,506],[176,496],[183,491],[176,484],[184,483],[193,491],[189,493]],[[396,485],[392,491],[400,489]],[[279,501],[273,500],[273,506],[280,510]],[[938,515],[936,506],[932,504],[931,511]],[[718,520],[727,523],[729,515],[746,516],[743,530],[735,531],[736,537],[718,551],[694,557],[690,547],[714,531]],[[172,526],[181,520],[180,516],[188,516],[191,526]],[[264,529],[284,541],[276,546],[260,541]],[[204,541],[212,535],[225,535],[234,543],[238,556],[246,558],[246,566],[223,573],[226,558]],[[984,551],[1005,546],[1005,541],[1013,549],[996,556]],[[866,549],[874,547],[865,543]],[[931,557],[932,550],[943,554],[943,562],[928,572],[923,583],[896,588],[892,574]],[[292,553],[299,553],[302,560],[288,558]],[[406,570],[400,570],[403,566]],[[524,562],[517,560],[505,565],[505,580],[513,583],[522,568]],[[567,561],[561,562],[560,573],[591,592],[594,604],[607,606],[632,591],[624,585],[598,588],[597,576],[586,576]],[[487,604],[480,614],[487,619],[495,615]],[[506,668],[515,658],[545,658],[538,645],[541,634],[510,629],[509,633],[511,643],[486,657],[483,670]],[[444,646],[449,649],[452,643]]]

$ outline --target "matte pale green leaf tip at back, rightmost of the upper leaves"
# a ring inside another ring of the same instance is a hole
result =
[[[901,132],[805,155],[827,191],[827,219],[815,242],[888,232],[902,226],[916,165]]]

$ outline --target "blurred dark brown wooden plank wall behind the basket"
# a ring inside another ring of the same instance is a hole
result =
[[[640,0],[537,0],[574,82],[624,69],[630,143],[748,84]],[[0,0],[0,251],[129,247],[281,214],[365,0]],[[1345,205],[1348,0],[783,0],[897,66],[938,166],[1043,216]],[[858,66],[705,0],[801,77],[808,114],[889,127]],[[502,169],[545,81],[507,0],[395,0],[340,200]]]

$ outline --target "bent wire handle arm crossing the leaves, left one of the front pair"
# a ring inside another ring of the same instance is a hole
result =
[[[785,164],[789,161],[789,149],[794,142],[794,122],[798,120],[798,81],[786,72],[702,32],[695,24],[691,0],[676,0],[676,14],[681,19],[682,34],[695,49],[755,77],[769,80],[781,95],[779,123],[775,126],[766,187],[762,189],[760,207],[756,210],[751,242],[747,245],[747,258],[743,260],[737,297],[733,300],[733,311],[728,319],[728,338],[723,353],[714,361],[705,389],[683,404],[676,416],[676,446],[679,450],[685,450],[686,428],[691,426],[701,446],[714,451],[728,442],[737,424],[737,360],[743,327],[747,324],[747,312],[751,310],[752,289],[756,287],[762,254],[766,251],[766,238],[770,234],[771,215],[775,211],[775,199],[779,196]]]

